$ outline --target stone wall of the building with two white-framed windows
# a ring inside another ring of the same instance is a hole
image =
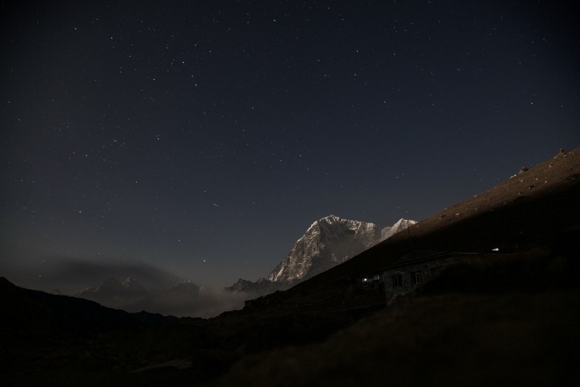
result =
[[[418,286],[421,285],[421,283],[435,274],[432,273],[433,269],[440,269],[445,265],[451,265],[455,262],[458,262],[459,260],[461,260],[461,258],[451,255],[442,258],[434,258],[433,260],[423,260],[421,262],[414,263],[411,262],[407,265],[386,269],[386,271],[383,273],[386,303],[391,304],[391,302],[393,302],[396,297],[405,295],[415,290]],[[413,283],[412,281],[412,274],[416,272],[420,273],[420,283]],[[393,276],[400,276],[400,287],[394,286]]]

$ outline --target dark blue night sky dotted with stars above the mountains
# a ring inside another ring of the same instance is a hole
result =
[[[565,2],[0,10],[0,275],[20,286],[255,281],[319,218],[421,220],[580,146]]]

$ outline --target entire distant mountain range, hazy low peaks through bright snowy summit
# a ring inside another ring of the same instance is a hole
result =
[[[394,225],[381,229],[373,223],[342,219],[334,215],[326,216],[312,223],[288,255],[270,272],[268,279],[262,278],[255,282],[239,279],[225,290],[231,293],[249,293],[250,297],[286,290],[349,260],[414,223],[414,220],[400,219]],[[166,304],[168,300],[179,299],[191,304],[200,293],[200,287],[191,281],[150,292],[132,277],[119,281],[111,276],[100,286],[86,288],[75,297],[99,302],[106,307],[138,311],[161,302]],[[173,310],[172,312],[175,313]]]

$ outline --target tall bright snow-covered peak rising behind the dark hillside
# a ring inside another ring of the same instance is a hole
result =
[[[401,219],[392,227],[380,230],[373,223],[326,216],[314,222],[296,241],[290,253],[273,269],[268,280],[296,283],[334,267],[379,241],[390,237],[413,220]]]

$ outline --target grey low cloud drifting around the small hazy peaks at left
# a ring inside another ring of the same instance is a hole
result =
[[[141,297],[104,297],[85,294],[82,297],[99,302],[105,307],[129,312],[149,311],[173,316],[209,318],[224,311],[241,309],[244,301],[257,297],[253,293],[231,292],[223,288],[202,287],[198,292],[171,289],[187,281],[182,276],[167,272],[143,262],[116,260],[87,261],[73,258],[50,258],[43,276],[32,274],[31,268],[20,267],[7,275],[8,280],[24,288],[50,292],[59,290],[64,295],[79,296],[82,290],[99,288],[103,281],[115,277],[124,281],[131,277],[147,289]]]

